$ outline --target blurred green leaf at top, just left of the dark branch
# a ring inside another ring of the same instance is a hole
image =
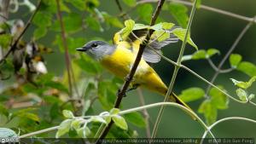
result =
[[[146,3],[137,7],[137,14],[144,20],[147,21],[151,19],[151,14],[153,12],[153,7],[151,4]]]

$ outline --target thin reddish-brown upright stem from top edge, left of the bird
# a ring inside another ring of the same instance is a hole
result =
[[[65,32],[65,28],[64,28],[64,24],[63,24],[63,20],[62,20],[62,15],[61,15],[60,0],[56,0],[56,3],[57,3],[57,18],[60,21],[60,25],[61,25],[61,40],[63,43],[63,47],[65,49],[65,60],[66,60],[66,68],[67,68],[69,96],[73,97],[73,89],[72,89],[73,87],[72,87],[72,79],[71,79],[72,76],[71,76],[71,72],[70,72],[71,63],[70,63],[70,58],[68,55],[66,32]]]

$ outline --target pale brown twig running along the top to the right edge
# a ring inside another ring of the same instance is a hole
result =
[[[174,2],[174,3],[183,3],[183,4],[188,5],[188,6],[193,6],[193,3],[185,2],[185,1],[182,1],[182,0],[168,0],[168,1],[171,1],[171,2]],[[155,3],[155,2],[157,2],[157,1],[156,0],[142,0],[142,1],[137,2],[137,5],[138,4],[143,4],[143,3]],[[203,5],[203,4],[201,4],[200,8],[201,9],[206,9],[208,11],[212,11],[212,12],[215,12],[215,13],[218,13],[218,14],[224,14],[224,15],[236,18],[238,20],[245,20],[245,21],[248,21],[248,22],[256,23],[256,20],[253,19],[253,18],[243,16],[243,15],[240,15],[240,14],[234,14],[234,13],[231,13],[229,11],[222,10],[222,9],[212,8],[212,7]]]

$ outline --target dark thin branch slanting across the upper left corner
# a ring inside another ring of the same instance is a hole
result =
[[[35,17],[35,15],[38,13],[38,9],[41,5],[42,0],[39,0],[38,5],[37,5],[37,9],[35,9],[34,13],[32,14],[32,16],[29,18],[29,20],[27,20],[26,22],[26,26],[24,27],[23,31],[20,32],[19,37],[17,37],[17,39],[15,40],[15,43],[12,44],[12,46],[10,47],[10,49],[7,51],[7,53],[3,56],[3,59],[0,60],[0,64],[7,59],[7,57],[11,54],[12,51],[14,51],[16,49],[16,45],[17,43],[19,43],[20,38],[24,35],[24,33],[26,32],[26,30],[28,29],[28,27],[31,25],[33,18]]]

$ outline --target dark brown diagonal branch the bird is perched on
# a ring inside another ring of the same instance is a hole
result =
[[[155,23],[155,20],[157,19],[158,15],[160,14],[160,10],[163,6],[163,4],[165,3],[165,0],[160,0],[158,5],[157,5],[157,8],[155,9],[154,11],[154,14],[151,18],[151,21],[150,21],[150,26],[153,26],[154,23]],[[131,72],[128,74],[128,76],[125,78],[125,84],[123,84],[123,87],[122,89],[119,90],[119,93],[117,95],[117,99],[114,103],[114,107],[115,108],[119,108],[120,104],[121,104],[121,101],[123,99],[123,96],[125,95],[125,92],[126,90],[128,89],[129,85],[131,84],[131,80],[137,70],[137,66],[139,65],[139,62],[141,61],[141,58],[143,56],[143,51],[144,49],[146,48],[147,44],[148,44],[148,41],[150,39],[150,36],[152,35],[153,31],[152,30],[149,30],[147,32],[147,36],[146,36],[146,39],[145,39],[145,43],[141,43],[140,44],[140,49],[138,50],[138,53],[137,53],[137,57],[136,57],[136,60],[134,61],[134,64],[132,65],[131,67]],[[113,125],[113,121],[111,121],[108,126],[106,127],[105,130],[103,130],[102,132],[102,135],[100,136],[99,139],[103,139],[105,138],[105,136],[108,134],[108,131],[110,130],[111,126]],[[102,143],[101,141],[96,141],[96,143]]]

